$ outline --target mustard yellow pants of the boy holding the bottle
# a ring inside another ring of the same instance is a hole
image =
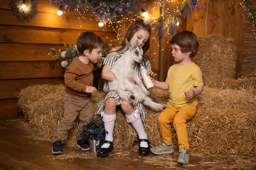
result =
[[[189,150],[189,139],[186,122],[191,120],[196,113],[195,104],[187,104],[182,108],[176,108],[167,102],[166,108],[158,117],[160,134],[163,142],[170,146],[172,144],[172,132],[170,124],[173,122],[173,127],[177,134],[179,149]]]

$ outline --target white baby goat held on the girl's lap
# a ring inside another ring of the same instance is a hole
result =
[[[158,104],[152,101],[150,93],[143,84],[142,79],[138,73],[134,70],[134,63],[143,63],[143,49],[138,46],[138,41],[135,41],[135,46],[126,40],[126,44],[129,48],[113,65],[111,72],[115,74],[114,81],[110,81],[108,86],[111,91],[116,91],[121,98],[133,104],[135,100],[143,102],[144,105],[154,108],[156,110],[162,110],[166,105]],[[130,77],[134,77],[136,84],[132,84],[129,81]]]

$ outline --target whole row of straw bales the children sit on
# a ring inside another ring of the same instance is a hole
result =
[[[221,89],[206,86],[199,95],[197,115],[187,123],[191,153],[256,154],[256,92],[255,88],[249,88],[253,82],[247,79],[231,81],[233,81],[231,84],[237,84],[235,89],[224,88],[225,84],[230,85],[230,83],[220,82],[217,84],[224,84]],[[24,118],[28,122],[27,127],[35,139],[52,141],[63,116],[63,90],[63,85],[35,85],[20,91],[18,106],[24,113]],[[168,91],[155,87],[150,88],[149,91],[153,101],[161,104],[168,101]],[[102,91],[92,95],[94,116],[99,116],[96,115],[97,104],[104,97],[105,93]],[[157,123],[159,114],[160,112],[149,109],[144,121],[151,146],[157,146],[162,142]],[[76,142],[77,125],[78,122],[70,130],[66,141],[73,146]],[[177,150],[177,137],[172,124],[171,129]],[[130,123],[127,123],[121,108],[117,108],[114,129],[115,149],[131,148],[135,141],[137,141],[137,132]]]

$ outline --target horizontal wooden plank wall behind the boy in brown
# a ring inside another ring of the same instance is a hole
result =
[[[94,19],[84,19],[73,11],[58,16],[58,6],[50,7],[49,0],[38,2],[38,12],[29,22],[13,15],[9,0],[0,0],[0,4],[0,119],[20,115],[17,97],[21,88],[64,83],[60,67],[50,70],[54,60],[48,55],[50,47],[76,44],[83,31],[94,31],[106,43],[116,39],[115,31],[99,27]]]

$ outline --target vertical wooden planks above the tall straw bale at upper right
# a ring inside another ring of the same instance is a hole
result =
[[[244,45],[244,9],[240,4],[237,4],[238,0],[201,1],[203,2],[203,8],[199,11],[193,11],[193,20],[186,23],[186,29],[193,31],[198,36],[216,33],[225,38],[234,38],[239,48],[236,78],[241,77]],[[220,62],[222,62],[221,58]]]

